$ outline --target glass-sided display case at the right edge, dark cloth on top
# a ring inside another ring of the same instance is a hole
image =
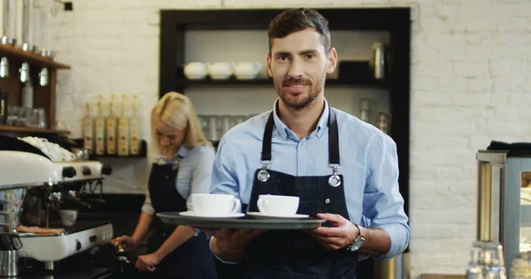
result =
[[[477,239],[504,246],[507,278],[512,260],[531,251],[531,143],[491,144],[478,161]]]

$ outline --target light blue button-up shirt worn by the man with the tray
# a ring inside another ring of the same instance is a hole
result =
[[[278,102],[278,100],[276,101]],[[268,167],[293,176],[329,176],[328,103],[317,128],[304,139],[281,122],[273,107],[272,160]],[[254,173],[262,168],[264,129],[270,111],[236,125],[219,142],[212,170],[212,193],[234,194],[250,203]],[[388,135],[339,109],[339,152],[350,222],[386,230],[391,239],[389,259],[403,253],[410,229],[404,213],[404,199],[398,192],[396,144]]]

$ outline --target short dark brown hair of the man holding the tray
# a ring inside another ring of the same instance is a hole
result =
[[[313,28],[321,34],[325,51],[330,50],[330,30],[328,29],[328,20],[325,19],[319,11],[298,8],[282,11],[269,23],[269,28],[267,29],[267,34],[269,36],[269,52],[271,52],[273,39],[284,38],[289,34],[302,31],[306,28]]]

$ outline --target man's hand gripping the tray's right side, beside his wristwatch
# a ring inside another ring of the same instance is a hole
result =
[[[349,220],[342,217],[342,215],[321,214],[318,218],[326,219],[331,222],[333,227],[319,227],[317,229],[309,230],[309,233],[316,238],[319,243],[327,250],[338,250],[348,245],[358,238],[359,230]]]

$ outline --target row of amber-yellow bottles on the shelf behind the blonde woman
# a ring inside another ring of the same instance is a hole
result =
[[[138,95],[133,95],[131,117],[127,115],[127,94],[122,94],[119,115],[114,112],[115,94],[111,94],[107,116],[103,113],[103,95],[98,94],[97,97],[96,117],[92,117],[91,104],[86,104],[87,112],[83,117],[84,148],[96,150],[96,155],[139,155]]]

